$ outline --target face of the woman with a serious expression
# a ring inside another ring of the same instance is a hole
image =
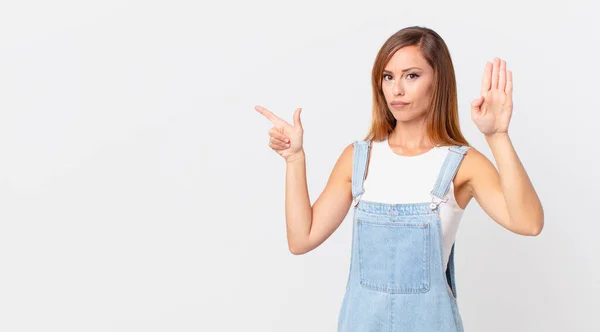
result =
[[[418,46],[405,46],[396,51],[381,79],[383,95],[397,121],[413,121],[427,114],[433,68]]]

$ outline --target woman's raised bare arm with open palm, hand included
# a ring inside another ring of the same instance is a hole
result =
[[[544,227],[544,211],[508,135],[512,109],[512,72],[496,58],[486,64],[471,118],[485,135],[498,171],[481,153],[470,151],[467,184],[492,219],[514,233],[536,236]]]

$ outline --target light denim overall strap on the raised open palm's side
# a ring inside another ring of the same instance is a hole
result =
[[[458,167],[462,162],[467,150],[470,147],[468,146],[451,146],[448,149],[448,155],[444,160],[444,164],[442,165],[442,169],[438,175],[437,181],[435,182],[435,186],[431,191],[432,203],[431,208],[435,209],[440,205],[441,202],[448,201],[448,197],[446,194],[450,189],[450,183],[454,180],[454,176],[458,172]]]

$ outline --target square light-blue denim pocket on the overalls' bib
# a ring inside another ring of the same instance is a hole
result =
[[[360,284],[385,293],[429,290],[430,227],[427,222],[359,218]]]

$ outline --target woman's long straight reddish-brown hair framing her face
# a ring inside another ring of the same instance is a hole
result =
[[[365,140],[382,141],[396,127],[381,90],[383,70],[394,53],[404,46],[418,46],[433,68],[430,111],[427,113],[427,135],[436,145],[469,145],[460,131],[454,66],[446,43],[435,31],[424,27],[407,27],[393,34],[383,44],[371,73],[373,110],[371,128]]]

